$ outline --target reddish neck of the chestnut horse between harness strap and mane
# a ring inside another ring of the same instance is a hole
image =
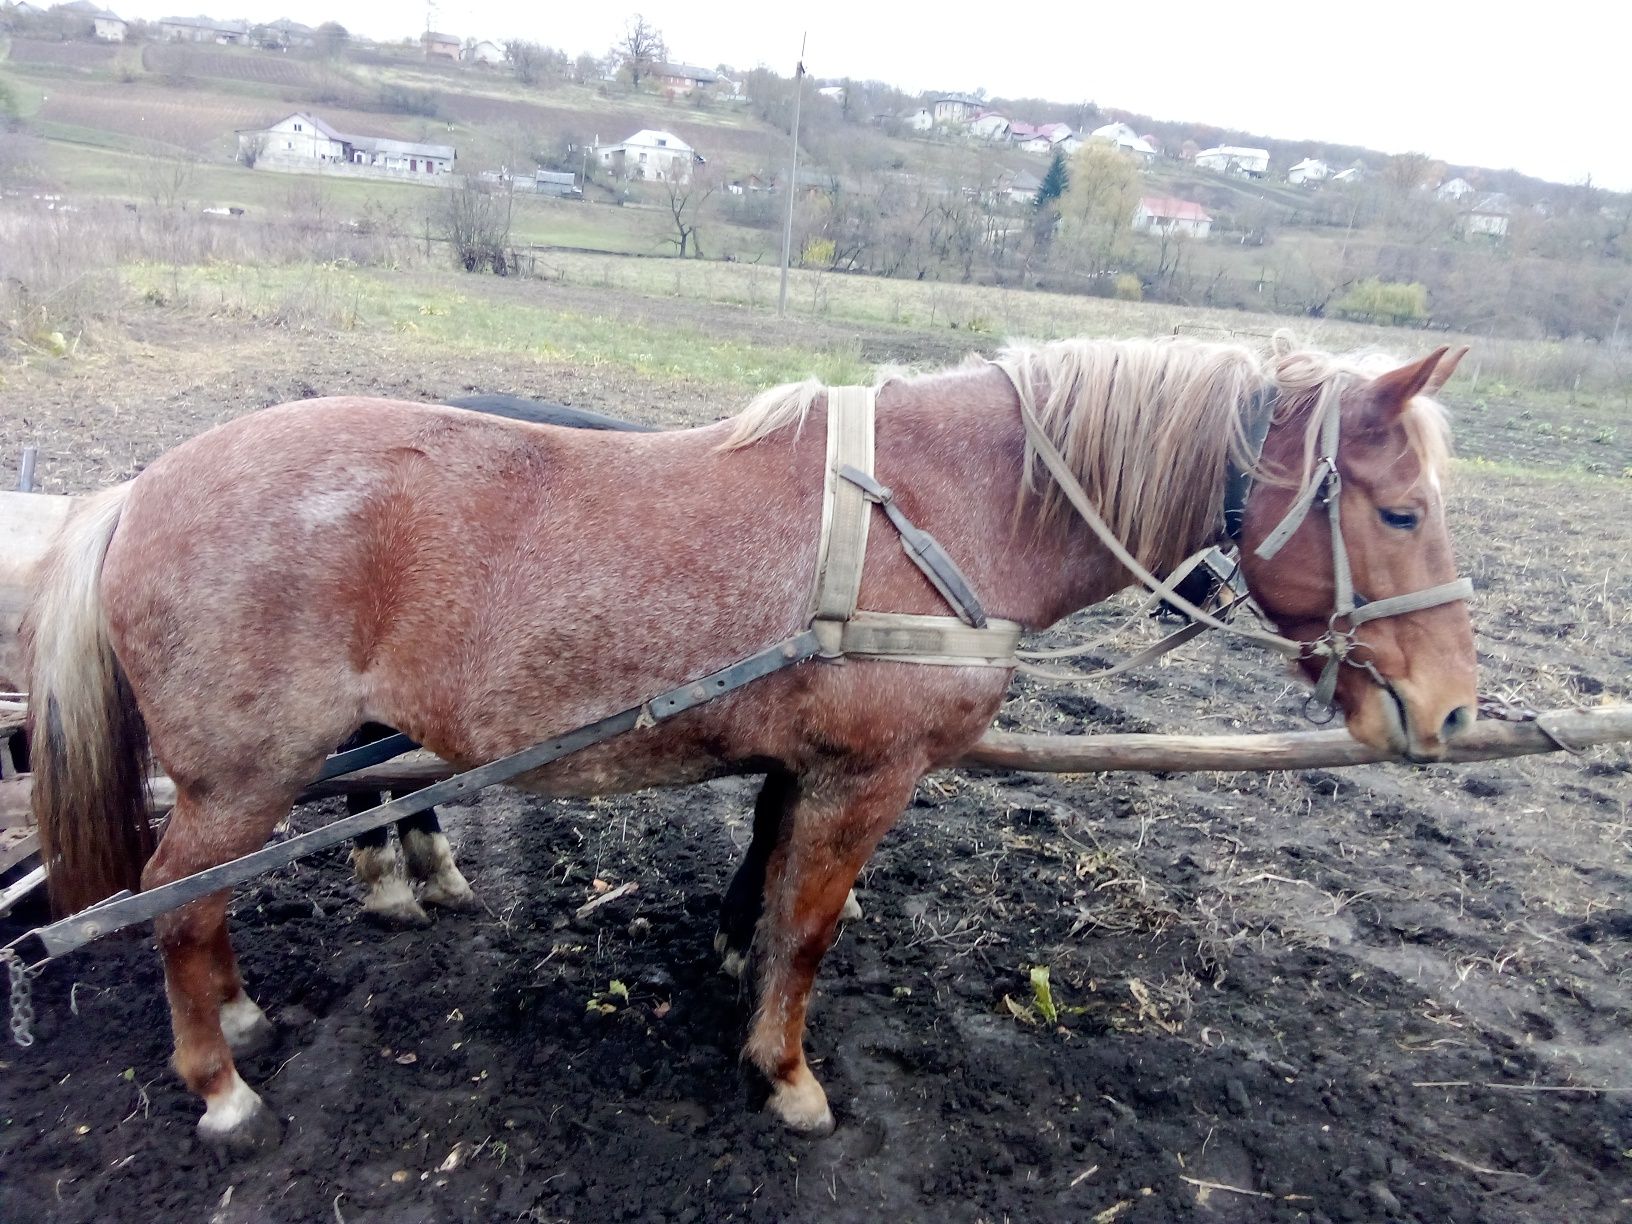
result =
[[[1017,509],[1023,459],[1013,388],[997,367],[880,392],[880,480],[956,560],[991,615],[1043,628],[1123,589],[1129,576],[1075,512],[1043,524],[1030,496]],[[1186,543],[1193,552],[1206,540]]]

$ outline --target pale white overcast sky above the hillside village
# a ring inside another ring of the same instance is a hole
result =
[[[627,11],[636,7],[687,64],[764,64],[788,73],[808,31],[805,62],[819,77],[1090,100],[1273,137],[1513,166],[1559,183],[1591,175],[1599,186],[1632,191],[1632,11],[1619,0],[1159,0],[1013,10],[636,0]],[[604,54],[625,18],[615,3],[514,0],[230,0],[230,8],[212,15],[336,20],[387,39],[418,34],[429,15],[434,28],[460,38],[527,38],[574,55]],[[157,18],[175,8],[132,0],[116,11]]]

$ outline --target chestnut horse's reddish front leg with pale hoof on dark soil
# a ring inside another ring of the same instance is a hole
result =
[[[765,868],[765,912],[754,942],[759,1009],[744,1058],[770,1082],[767,1108],[809,1134],[832,1129],[827,1093],[805,1061],[805,1012],[857,873],[896,823],[919,770],[806,775]]]

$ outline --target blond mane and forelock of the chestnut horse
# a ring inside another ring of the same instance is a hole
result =
[[[974,367],[982,364],[971,359]],[[1268,353],[1186,336],[1056,339],[1007,344],[992,364],[1020,388],[1106,526],[1142,565],[1160,571],[1216,529],[1229,460],[1244,467],[1252,462],[1244,408],[1257,392],[1266,388],[1278,397],[1278,421],[1307,413],[1307,424],[1302,472],[1258,468],[1253,475],[1301,485],[1314,465],[1320,419],[1332,397],[1399,362],[1377,353],[1297,349],[1291,333],[1278,331]],[[873,385],[899,377],[898,370],[881,372]],[[721,449],[801,429],[824,390],[808,379],[761,393],[736,418]],[[1443,473],[1449,429],[1439,405],[1418,397],[1402,424],[1423,465]],[[1036,496],[1038,517],[1053,522],[1069,512],[1069,503],[1038,468],[1027,442],[1020,499]]]

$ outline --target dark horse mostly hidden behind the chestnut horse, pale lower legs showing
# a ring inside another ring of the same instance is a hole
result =
[[[529,424],[553,424],[563,429],[605,429],[617,432],[656,432],[656,426],[638,421],[625,421],[589,408],[573,408],[565,403],[545,400],[527,400],[519,395],[481,393],[463,395],[446,400],[444,406],[465,408],[486,416],[503,416],[511,421]],[[392,728],[380,723],[364,723],[346,739],[339,751],[362,747],[392,734]],[[411,793],[411,792],[403,792]],[[349,792],[346,809],[357,813],[375,808],[385,801],[382,792]],[[436,816],[436,808],[405,816],[397,821],[397,840],[390,839],[390,827],[380,826],[359,834],[351,844],[353,873],[366,889],[362,911],[387,925],[421,927],[431,919],[424,906],[441,906],[444,909],[470,909],[475,894],[459,865],[454,862],[454,850],[442,832],[442,823]],[[419,883],[419,894],[415,896],[410,876]]]

